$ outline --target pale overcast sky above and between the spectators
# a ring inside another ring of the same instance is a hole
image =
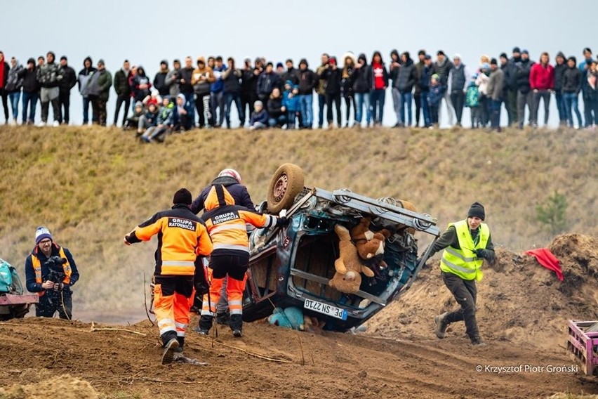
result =
[[[103,58],[113,74],[128,58],[152,79],[160,60],[171,64],[185,55],[232,55],[239,65],[257,55],[274,63],[292,58],[295,65],[307,58],[311,68],[323,52],[339,58],[345,51],[363,52],[369,61],[379,50],[387,61],[393,48],[412,55],[425,48],[434,58],[438,49],[451,58],[460,53],[474,69],[481,54],[498,58],[503,51],[510,55],[513,46],[529,50],[533,60],[542,51],[550,53],[551,63],[557,51],[583,58],[585,46],[598,46],[595,17],[588,10],[554,0],[541,5],[521,0],[8,1],[2,4],[0,50],[21,63],[51,50],[57,59],[67,55],[76,72],[87,55],[94,65]],[[112,89],[108,122],[115,97]],[[80,124],[76,89],[71,102],[72,123]],[[554,98],[551,109],[554,116]],[[542,115],[540,110],[539,120]],[[390,91],[384,122],[396,122]],[[464,122],[469,124],[468,114]]]

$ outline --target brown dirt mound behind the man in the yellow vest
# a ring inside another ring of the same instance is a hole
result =
[[[555,237],[549,249],[561,262],[564,281],[533,256],[499,247],[496,261],[485,265],[478,284],[478,322],[487,339],[562,350],[567,320],[598,320],[598,247],[594,237]],[[370,334],[393,338],[433,336],[434,315],[457,308],[439,276],[440,254],[427,262],[413,287],[378,313]],[[451,331],[452,330],[452,331]],[[451,325],[447,338],[462,337],[462,323]]]

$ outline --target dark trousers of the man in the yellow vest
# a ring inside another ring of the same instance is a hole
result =
[[[470,338],[479,335],[477,329],[477,320],[475,318],[475,301],[477,296],[477,289],[475,280],[463,280],[458,275],[453,273],[442,272],[442,280],[444,285],[449,289],[451,294],[455,297],[457,303],[461,306],[459,310],[455,310],[444,319],[446,322],[465,322],[465,332]]]

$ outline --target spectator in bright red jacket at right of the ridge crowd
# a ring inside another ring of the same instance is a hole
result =
[[[529,87],[533,92],[530,122],[532,127],[538,127],[538,107],[540,98],[544,100],[544,126],[548,124],[548,107],[550,93],[554,91],[554,67],[548,63],[550,57],[544,52],[540,55],[540,62],[532,65],[529,72]]]

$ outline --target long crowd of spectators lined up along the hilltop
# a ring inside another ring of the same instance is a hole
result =
[[[45,58],[29,58],[26,65],[15,57],[9,65],[0,51],[0,77],[6,124],[19,123],[20,101],[22,124],[35,123],[38,101],[38,126],[69,124],[70,93],[77,85],[83,124],[106,126],[106,104],[114,87],[114,126],[120,122],[144,141],[163,140],[172,131],[230,129],[233,104],[239,125],[248,129],[380,126],[387,92],[394,106],[394,127],[433,128],[444,112],[444,124],[462,126],[463,110],[469,107],[472,128],[500,131],[503,105],[509,126],[522,129],[527,109],[527,123],[537,127],[540,100],[546,125],[552,94],[562,126],[593,128],[598,119],[597,60],[590,48],[583,49],[579,64],[574,56],[566,57],[560,51],[554,65],[545,52],[536,63],[528,51],[515,47],[510,57],[506,53],[498,59],[482,55],[474,67],[464,65],[459,54],[449,59],[441,50],[435,59],[424,50],[416,59],[408,51],[392,50],[388,64],[379,51],[369,63],[363,53],[345,53],[340,59],[324,53],[314,69],[305,58],[295,68],[291,59],[284,65],[264,58],[255,58],[252,64],[246,59],[238,67],[233,58],[193,60],[187,56],[183,64],[173,60],[169,66],[161,61],[154,79],[141,65],[131,65],[128,60],[113,77],[104,60],[93,65],[91,57],[84,59],[77,73],[64,55],[56,63],[52,51]],[[583,119],[578,107],[580,93]],[[50,105],[53,122],[48,120]]]

